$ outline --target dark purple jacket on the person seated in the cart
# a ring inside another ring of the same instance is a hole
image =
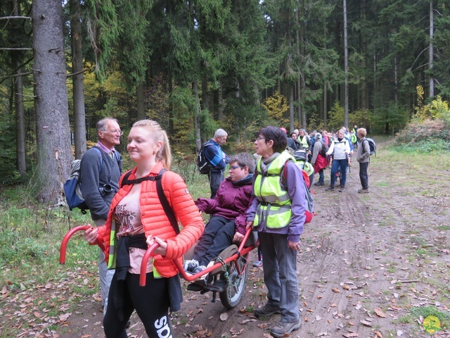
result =
[[[253,174],[243,180],[232,182],[227,177],[220,183],[214,199],[199,198],[195,201],[200,211],[222,216],[227,220],[235,220],[236,231],[245,234],[247,218],[245,212],[252,201]]]

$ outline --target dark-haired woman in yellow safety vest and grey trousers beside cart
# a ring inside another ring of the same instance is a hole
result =
[[[248,227],[258,231],[262,250],[267,303],[255,315],[281,313],[271,327],[273,337],[284,337],[301,326],[297,282],[297,253],[305,221],[305,187],[295,159],[285,151],[287,137],[277,127],[264,127],[255,140],[257,163]]]

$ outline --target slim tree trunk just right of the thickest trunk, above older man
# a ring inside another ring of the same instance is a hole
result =
[[[84,111],[82,23],[79,0],[70,0],[70,30],[72,32],[73,129],[75,158],[86,151],[86,112]]]

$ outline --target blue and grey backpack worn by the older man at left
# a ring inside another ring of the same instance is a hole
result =
[[[100,156],[100,171],[103,166],[103,158],[101,157],[101,152],[98,148],[94,146],[94,149],[98,152],[98,156]],[[70,211],[75,208],[80,208],[82,213],[85,214],[86,210],[89,209],[86,202],[84,201],[81,188],[79,187],[79,168],[81,166],[82,160],[72,161],[72,165],[70,165],[70,176],[64,182],[64,194],[65,200],[68,202],[68,206]]]

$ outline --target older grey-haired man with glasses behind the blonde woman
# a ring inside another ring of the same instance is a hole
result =
[[[119,123],[115,118],[103,118],[96,125],[98,142],[82,156],[79,183],[96,226],[104,225],[111,201],[119,190],[122,175],[122,156],[114,149],[120,144]],[[108,270],[105,254],[98,258],[103,313],[108,305],[108,294],[114,270]]]

